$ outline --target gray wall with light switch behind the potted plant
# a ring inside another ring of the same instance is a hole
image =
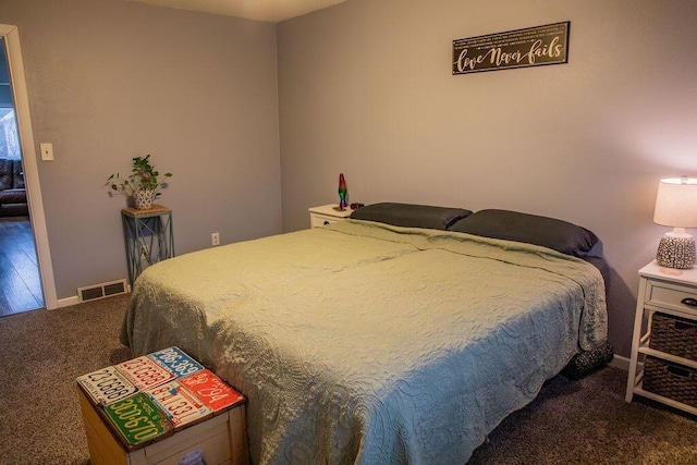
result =
[[[151,154],[178,255],[281,232],[276,32],[122,0],[3,0],[20,32],[59,298],[126,277],[103,187]]]

